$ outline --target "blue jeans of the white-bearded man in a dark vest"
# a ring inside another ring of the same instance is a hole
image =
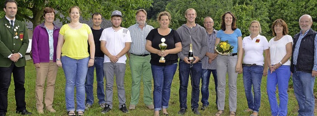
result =
[[[297,71],[294,66],[293,87],[299,106],[298,116],[314,116],[314,83],[312,73]]]

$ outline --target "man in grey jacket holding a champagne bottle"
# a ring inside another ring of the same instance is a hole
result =
[[[182,40],[182,51],[178,53],[179,61],[179,103],[178,114],[184,115],[187,109],[187,87],[189,75],[192,83],[192,112],[200,115],[198,111],[199,84],[202,75],[201,59],[206,55],[207,35],[204,27],[195,23],[196,10],[189,8],[185,12],[187,23],[177,29]]]

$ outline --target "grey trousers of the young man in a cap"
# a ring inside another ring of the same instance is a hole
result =
[[[113,82],[115,74],[115,82],[118,90],[119,108],[125,104],[125,90],[124,90],[124,74],[125,63],[104,63],[104,72],[106,75],[106,104],[110,105],[112,109],[112,97],[113,97]]]

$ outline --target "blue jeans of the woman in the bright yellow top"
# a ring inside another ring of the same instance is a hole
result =
[[[85,111],[85,80],[88,71],[89,57],[73,59],[66,56],[61,57],[66,87],[65,101],[66,110],[75,111],[74,88],[76,86],[77,112]]]

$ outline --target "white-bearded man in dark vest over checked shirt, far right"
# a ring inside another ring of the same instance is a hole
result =
[[[317,32],[311,26],[312,17],[299,18],[301,31],[294,35],[291,59],[294,93],[298,102],[298,116],[314,116],[314,83],[317,76]]]

